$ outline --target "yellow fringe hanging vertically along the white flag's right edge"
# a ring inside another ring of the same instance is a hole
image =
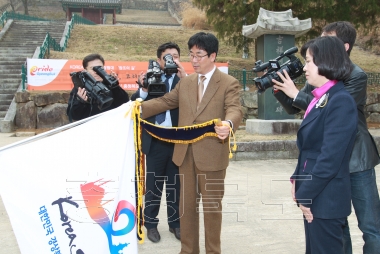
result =
[[[136,159],[136,182],[137,182],[137,204],[136,204],[136,223],[137,223],[137,235],[140,240],[139,243],[144,243],[145,234],[142,230],[144,225],[144,216],[142,216],[143,211],[143,196],[145,190],[145,167],[144,167],[144,156],[141,152],[141,124],[140,124],[140,101],[136,101],[133,107],[131,117],[133,118],[133,135],[135,144],[135,159]],[[128,114],[129,112],[127,112]],[[140,152],[140,156],[138,156]]]

